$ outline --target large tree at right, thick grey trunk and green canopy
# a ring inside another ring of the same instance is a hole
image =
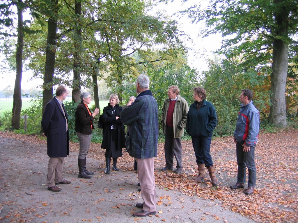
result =
[[[286,126],[285,84],[289,59],[297,54],[298,1],[211,0],[206,9],[195,5],[185,12],[193,21],[206,22],[205,36],[222,33],[219,53],[242,56],[241,65],[247,69],[264,70],[271,64],[271,71],[267,69],[271,75],[269,121]]]

